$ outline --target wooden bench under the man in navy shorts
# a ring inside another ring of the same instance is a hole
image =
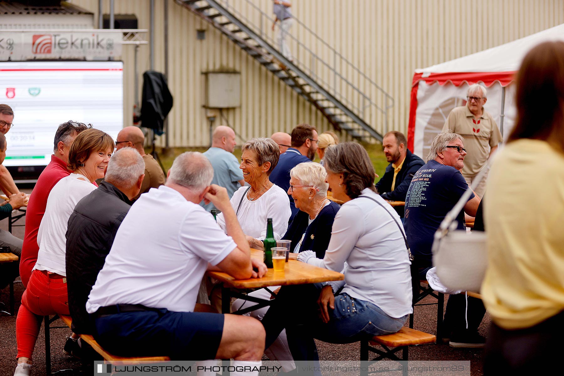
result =
[[[46,362],[46,373],[49,375],[51,374],[51,344],[50,344],[50,329],[56,328],[66,328],[65,326],[50,326],[52,322],[57,319],[61,319],[69,328],[72,324],[72,318],[70,316],[64,315],[56,315],[51,319],[49,316],[45,316],[45,362]],[[161,361],[168,361],[170,357],[168,356],[144,356],[144,357],[124,357],[124,356],[117,356],[105,351],[102,346],[94,337],[89,334],[81,334],[80,338],[88,343],[94,351],[99,353],[104,360],[111,361],[113,365],[130,365],[130,364],[140,364],[143,361],[152,361],[152,362],[161,362]]]

